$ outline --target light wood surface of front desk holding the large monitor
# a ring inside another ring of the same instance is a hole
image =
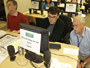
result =
[[[7,32],[9,34],[12,34],[12,35],[16,35],[18,36],[18,38],[20,38],[19,34],[15,34],[15,33],[11,33],[11,32]],[[78,47],[76,46],[73,46],[73,45],[68,45],[68,44],[64,44],[64,43],[59,43],[59,42],[54,42],[54,43],[58,43],[58,44],[61,44],[61,49],[59,50],[56,50],[56,49],[50,49],[50,51],[52,53],[55,53],[55,54],[59,54],[59,55],[66,55],[66,56],[70,56],[70,57],[73,57],[75,59],[78,58],[77,55],[69,55],[69,54],[63,54],[63,49],[64,48],[74,48],[74,49],[78,49]],[[71,58],[68,58],[68,57],[65,57],[65,56],[57,56],[57,55],[54,55],[54,54],[51,54],[51,57],[53,58],[57,58],[59,62],[63,62],[63,63],[69,63],[72,65],[72,68],[76,68],[76,65],[77,65],[77,61],[76,60],[73,60]],[[24,58],[24,56],[19,56],[18,54],[16,54],[16,59],[15,61],[17,63],[19,63],[20,65],[24,65],[27,63],[27,59]],[[28,63],[25,65],[25,66],[19,66],[15,61],[11,62],[10,61],[10,58],[7,57],[1,64],[0,64],[0,68],[34,68],[30,62],[28,61]],[[44,62],[43,62],[44,63]],[[44,64],[43,63],[40,63],[40,64],[36,64],[38,67],[42,66],[41,68],[45,68],[44,67]]]

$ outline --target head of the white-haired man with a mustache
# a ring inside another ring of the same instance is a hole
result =
[[[82,16],[76,16],[73,20],[73,28],[76,34],[82,35],[85,26],[85,19]]]

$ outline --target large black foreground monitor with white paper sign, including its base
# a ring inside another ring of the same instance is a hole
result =
[[[49,50],[48,30],[20,23],[20,46],[26,49],[27,59],[36,63],[43,62],[43,57],[38,53],[44,54]]]

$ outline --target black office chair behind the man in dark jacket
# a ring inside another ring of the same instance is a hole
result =
[[[65,23],[62,38],[59,40],[59,42],[69,44],[70,32],[72,31],[72,20],[70,17],[64,15],[60,15],[59,18]]]

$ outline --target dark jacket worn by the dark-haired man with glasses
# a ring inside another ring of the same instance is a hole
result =
[[[47,29],[50,23],[48,18],[42,20],[40,27]],[[58,41],[64,30],[64,22],[61,19],[57,19],[56,24],[53,28],[52,34],[49,36],[49,41]]]

